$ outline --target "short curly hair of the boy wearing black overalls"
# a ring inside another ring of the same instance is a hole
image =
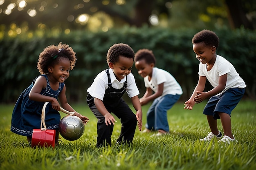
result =
[[[115,64],[118,62],[119,56],[132,58],[132,60],[134,60],[134,51],[127,44],[114,44],[110,47],[110,49],[108,49],[107,63],[112,62]]]

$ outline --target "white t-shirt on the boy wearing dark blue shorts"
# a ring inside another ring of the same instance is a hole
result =
[[[245,88],[244,80],[239,76],[236,72],[234,66],[227,61],[224,57],[220,55],[216,55],[216,61],[211,68],[210,71],[207,71],[207,64],[199,64],[199,72],[200,76],[206,76],[213,87],[218,86],[219,77],[225,75],[227,73],[227,83],[225,89],[220,92],[218,95],[221,95],[229,88]]]

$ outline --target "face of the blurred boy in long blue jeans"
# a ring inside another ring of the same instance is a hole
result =
[[[154,63],[148,64],[145,59],[139,60],[135,62],[135,67],[141,77],[152,77],[153,67],[155,66]]]

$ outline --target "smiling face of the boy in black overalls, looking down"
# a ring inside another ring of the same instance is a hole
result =
[[[133,59],[123,56],[119,56],[119,60],[115,62],[115,64],[112,62],[108,63],[109,68],[113,69],[113,72],[119,82],[130,74],[132,71],[132,65]]]

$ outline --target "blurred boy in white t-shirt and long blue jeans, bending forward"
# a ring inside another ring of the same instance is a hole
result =
[[[143,132],[157,130],[157,137],[168,135],[167,111],[180,99],[182,88],[170,73],[155,67],[155,56],[151,50],[140,49],[135,53],[134,61],[146,86],[146,93],[139,102],[143,106],[153,101],[147,112],[147,124]]]

